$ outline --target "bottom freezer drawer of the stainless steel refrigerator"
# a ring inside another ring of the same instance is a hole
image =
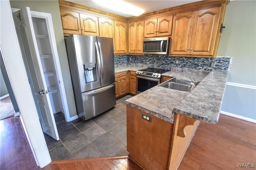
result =
[[[84,115],[79,115],[81,119],[88,120],[116,105],[115,84],[98,88],[82,95]]]

